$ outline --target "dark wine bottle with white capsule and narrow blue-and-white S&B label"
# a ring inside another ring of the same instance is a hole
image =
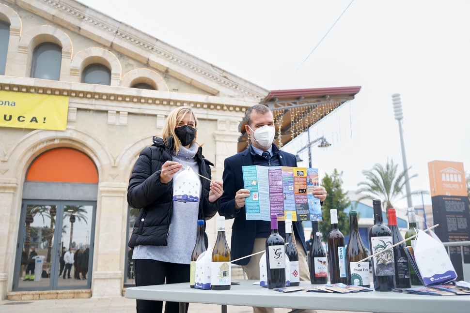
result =
[[[345,236],[338,229],[338,213],[330,209],[331,231],[328,234],[329,281],[347,283]]]

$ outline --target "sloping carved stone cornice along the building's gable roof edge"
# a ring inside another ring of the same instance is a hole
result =
[[[21,7],[26,9],[31,9],[34,7],[34,4],[31,4],[31,1],[22,1],[22,0],[6,0],[11,3],[15,3]],[[39,1],[39,0],[38,0]],[[99,12],[95,11],[94,9],[81,5],[76,1],[72,0],[40,0],[45,5],[49,7],[53,7],[57,10],[62,11],[62,13],[69,15],[69,18],[66,21],[63,21],[60,18],[55,18],[53,21],[63,27],[68,29],[77,31],[79,29],[81,23],[87,23],[94,28],[98,28],[104,30],[111,35],[119,37],[120,40],[123,40],[127,44],[134,45],[139,49],[146,50],[147,52],[151,52],[157,54],[159,57],[162,57],[168,61],[168,64],[176,64],[196,75],[203,76],[205,79],[209,79],[214,81],[224,87],[233,90],[235,93],[241,94],[243,96],[248,96],[255,99],[257,102],[260,102],[262,99],[266,97],[268,94],[268,90],[263,89],[247,80],[235,76],[231,73],[224,71],[221,68],[214,66],[213,64],[207,63],[201,59],[198,59],[182,50],[179,50],[171,45],[168,45],[162,41],[157,40],[154,37],[151,37],[140,30],[136,30],[131,26],[126,25],[125,23],[119,23],[116,21],[115,25],[111,25],[103,21],[99,15],[103,17],[108,17],[107,15],[100,14]],[[46,10],[45,10],[46,11]],[[49,12],[34,12],[35,14],[41,15],[43,17],[48,18],[50,15]],[[57,16],[57,15],[56,15]],[[76,20],[77,23],[73,23],[72,20]],[[71,24],[74,24],[75,27],[72,27]],[[132,30],[132,33],[125,30]],[[86,36],[86,33],[80,34]],[[155,41],[154,43],[145,40],[144,37]],[[114,40],[112,41],[114,45]],[[169,50],[176,50],[177,54],[169,52]],[[141,53],[144,55],[144,53]],[[194,59],[194,61],[191,61]],[[171,71],[169,72],[172,75]],[[243,84],[240,84],[243,83]]]

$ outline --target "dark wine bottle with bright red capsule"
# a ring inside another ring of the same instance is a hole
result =
[[[389,227],[392,231],[393,244],[403,241],[398,230],[395,209],[389,209]],[[409,281],[408,257],[405,252],[405,243],[393,247],[393,258],[395,263],[395,286],[396,288],[411,288]]]

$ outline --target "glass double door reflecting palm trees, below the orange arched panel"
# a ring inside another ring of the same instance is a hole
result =
[[[91,288],[95,208],[87,201],[24,201],[13,291]]]

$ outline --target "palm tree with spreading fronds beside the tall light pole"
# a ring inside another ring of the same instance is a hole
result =
[[[359,198],[363,199],[376,199],[379,198],[382,200],[382,205],[385,207],[388,216],[388,210],[393,208],[393,202],[399,199],[403,199],[407,196],[406,192],[403,192],[407,181],[412,179],[417,174],[411,176],[408,180],[405,178],[405,173],[410,169],[398,173],[398,164],[393,164],[393,160],[389,162],[385,167],[382,164],[375,164],[372,170],[362,171],[362,174],[366,177],[367,181],[361,181],[358,183],[358,186],[361,188],[358,190],[358,193],[368,193]],[[427,194],[426,191],[413,191],[410,195],[413,194]],[[375,195],[372,196],[371,194]]]

